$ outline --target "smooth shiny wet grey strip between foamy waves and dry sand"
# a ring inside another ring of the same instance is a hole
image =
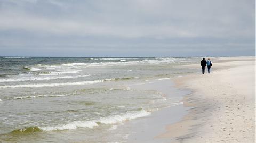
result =
[[[155,138],[155,134],[164,133],[166,125],[178,122],[188,114],[187,110],[190,107],[183,106],[182,98],[190,94],[190,91],[175,88],[171,79],[130,87],[136,90],[155,90],[161,92],[166,98],[179,100],[179,103],[173,103],[169,107],[153,111],[149,116],[126,122],[122,128],[128,128],[132,132],[127,138],[127,142],[170,142],[170,139]]]

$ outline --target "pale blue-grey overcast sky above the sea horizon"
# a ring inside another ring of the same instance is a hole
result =
[[[255,56],[255,0],[0,0],[0,56]]]

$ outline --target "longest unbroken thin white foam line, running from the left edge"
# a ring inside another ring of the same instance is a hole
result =
[[[19,88],[19,87],[54,87],[54,86],[67,86],[67,85],[91,85],[93,83],[100,83],[104,80],[93,81],[79,81],[79,82],[62,82],[62,83],[41,83],[41,84],[28,84],[28,85],[6,85],[0,88]]]

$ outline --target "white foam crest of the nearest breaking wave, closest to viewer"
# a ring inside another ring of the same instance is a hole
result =
[[[55,126],[45,126],[39,127],[39,129],[44,131],[54,131],[54,130],[75,130],[77,128],[93,128],[99,126],[99,124],[116,124],[122,123],[123,121],[136,119],[139,117],[150,115],[150,112],[145,110],[141,111],[130,111],[123,115],[112,115],[109,117],[102,117],[99,120],[92,121],[74,121],[68,124],[59,124]]]

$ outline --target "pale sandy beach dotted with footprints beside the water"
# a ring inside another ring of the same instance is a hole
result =
[[[171,142],[255,142],[255,57],[212,58],[210,74],[175,78],[189,113],[155,138]],[[186,65],[200,67],[199,64]],[[198,70],[199,71],[199,70]]]

